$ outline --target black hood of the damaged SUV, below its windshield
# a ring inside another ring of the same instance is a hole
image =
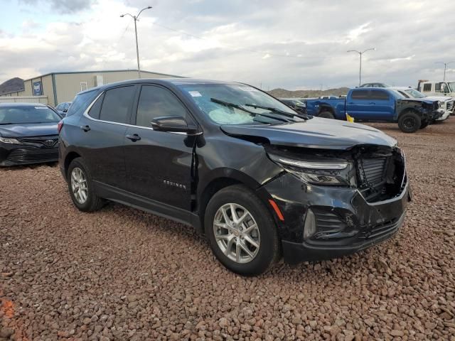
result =
[[[263,137],[270,144],[280,146],[349,149],[360,144],[390,147],[397,144],[395,139],[370,126],[318,117],[274,126],[222,125],[220,128],[231,136]]]

